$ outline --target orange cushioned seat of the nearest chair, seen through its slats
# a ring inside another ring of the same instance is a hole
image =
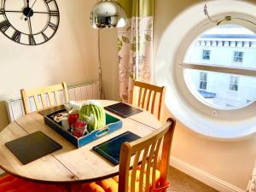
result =
[[[131,172],[130,172],[131,173]],[[143,172],[144,176],[144,182],[146,179],[146,172]],[[152,174],[150,174],[152,175]],[[140,166],[137,167],[137,172],[136,172],[136,178],[135,178],[135,192],[139,191],[139,178],[140,178]],[[131,174],[129,176],[129,180],[131,179]],[[157,183],[159,183],[160,180],[160,171],[156,170],[155,171],[155,184],[157,186]],[[130,182],[129,182],[130,183]],[[150,176],[149,178],[149,183],[152,185],[152,177]],[[92,183],[85,183],[83,185],[83,192],[118,192],[118,185],[119,185],[119,177],[111,177],[107,178],[101,181],[97,182],[92,182]],[[130,191],[130,189],[129,189]],[[145,191],[145,189],[143,189]]]

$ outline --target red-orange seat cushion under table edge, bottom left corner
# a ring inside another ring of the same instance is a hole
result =
[[[0,192],[67,192],[58,184],[43,184],[26,181],[20,177],[6,175],[0,177]]]

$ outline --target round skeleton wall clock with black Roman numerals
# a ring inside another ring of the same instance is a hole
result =
[[[55,0],[0,0],[0,31],[18,44],[44,44],[55,35],[60,13]]]

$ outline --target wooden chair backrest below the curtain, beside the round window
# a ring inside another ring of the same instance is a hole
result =
[[[157,118],[160,119],[160,111],[162,101],[164,100],[165,87],[147,84],[140,81],[135,81],[133,86],[133,100],[136,96],[137,101],[132,101],[131,104],[134,104],[139,108],[144,108],[152,114],[154,114],[154,106],[157,105]]]

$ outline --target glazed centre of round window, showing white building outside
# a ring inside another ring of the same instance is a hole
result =
[[[256,99],[256,78],[248,76],[256,69],[256,35],[243,26],[214,26],[201,33],[183,63],[189,90],[211,108],[243,108]]]

